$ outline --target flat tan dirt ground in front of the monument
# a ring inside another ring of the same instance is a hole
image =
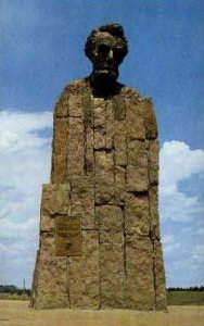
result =
[[[204,326],[204,306],[169,306],[168,313],[129,310],[42,310],[1,300],[1,326]]]

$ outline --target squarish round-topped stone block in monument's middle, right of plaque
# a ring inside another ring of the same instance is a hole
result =
[[[124,236],[123,210],[114,205],[101,205],[95,208],[95,216],[100,243],[122,243]]]

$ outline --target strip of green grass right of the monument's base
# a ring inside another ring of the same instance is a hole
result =
[[[204,305],[204,291],[167,291],[168,305]]]

